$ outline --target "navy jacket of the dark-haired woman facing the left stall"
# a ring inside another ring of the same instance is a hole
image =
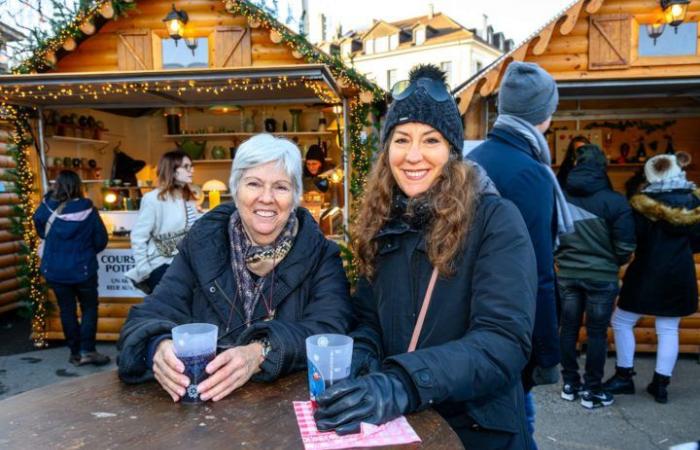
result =
[[[34,213],[40,238],[46,237],[46,223],[60,204],[47,195]],[[47,281],[81,283],[97,273],[97,254],[107,247],[107,240],[107,230],[92,201],[70,200],[51,225],[39,270]]]

